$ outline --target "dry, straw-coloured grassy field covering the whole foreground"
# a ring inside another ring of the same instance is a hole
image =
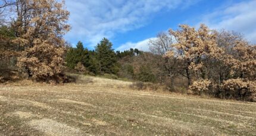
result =
[[[256,135],[256,103],[130,85],[87,76],[0,85],[0,135]]]

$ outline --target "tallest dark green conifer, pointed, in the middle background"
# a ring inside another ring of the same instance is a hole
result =
[[[107,38],[103,38],[95,48],[96,59],[98,61],[99,73],[117,73],[117,56],[115,55],[113,44]]]

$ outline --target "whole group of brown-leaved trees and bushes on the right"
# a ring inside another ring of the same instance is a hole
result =
[[[256,101],[256,50],[240,35],[217,33],[204,24],[198,30],[180,25],[180,30],[169,32],[176,43],[165,56],[183,62],[186,77],[194,80],[192,85],[189,81],[193,94]]]

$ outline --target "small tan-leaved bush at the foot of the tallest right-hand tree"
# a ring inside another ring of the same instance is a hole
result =
[[[214,95],[216,93],[216,85],[211,80],[198,80],[189,86],[189,92],[193,95]]]

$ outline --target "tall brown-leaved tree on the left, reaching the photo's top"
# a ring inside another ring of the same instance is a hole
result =
[[[15,43],[25,48],[18,57],[18,67],[29,77],[45,82],[63,82],[65,41],[70,29],[69,12],[64,2],[55,0],[20,0],[14,25]]]

